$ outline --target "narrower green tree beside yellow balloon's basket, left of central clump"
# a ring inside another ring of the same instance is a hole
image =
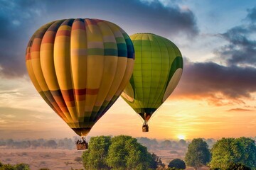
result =
[[[82,163],[85,169],[110,169],[106,163],[110,145],[110,136],[92,137],[88,150],[82,154]]]

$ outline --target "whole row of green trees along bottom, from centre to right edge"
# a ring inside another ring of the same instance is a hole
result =
[[[156,154],[150,154],[138,140],[129,136],[92,137],[89,149],[82,154],[85,169],[256,169],[255,140],[248,137],[223,138],[209,149],[205,140],[197,138],[188,144],[184,160],[174,159],[166,167]]]

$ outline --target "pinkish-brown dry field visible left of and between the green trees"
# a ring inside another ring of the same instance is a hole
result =
[[[151,149],[151,153],[155,153],[168,165],[172,159],[184,159],[186,149]],[[81,157],[82,151],[76,149],[4,149],[0,148],[0,162],[4,164],[29,164],[31,170],[41,168],[49,168],[51,170],[70,170],[82,169],[81,163],[76,162],[76,157]],[[187,168],[192,170],[193,168]],[[208,168],[203,168],[208,169]],[[202,169],[202,170],[203,170]]]

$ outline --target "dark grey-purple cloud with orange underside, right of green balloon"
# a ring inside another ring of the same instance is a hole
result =
[[[241,103],[256,91],[256,69],[225,67],[213,62],[184,61],[184,71],[175,95],[188,98],[207,98],[220,104],[226,98]]]

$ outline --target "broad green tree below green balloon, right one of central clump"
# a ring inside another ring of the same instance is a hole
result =
[[[119,135],[111,141],[107,157],[111,169],[156,169],[152,155],[135,138]]]

